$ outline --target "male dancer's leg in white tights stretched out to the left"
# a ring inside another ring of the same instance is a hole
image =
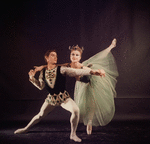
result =
[[[28,125],[24,128],[21,128],[21,129],[18,129],[14,132],[14,134],[22,134],[22,133],[26,133],[29,131],[29,129],[37,124],[38,122],[41,121],[41,119],[43,119],[49,112],[51,112],[53,109],[55,108],[55,106],[52,106],[50,104],[48,104],[47,102],[44,102],[41,109],[40,109],[40,112],[34,116],[32,118],[32,120],[28,123]]]

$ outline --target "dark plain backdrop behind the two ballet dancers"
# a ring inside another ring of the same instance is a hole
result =
[[[114,119],[149,119],[150,6],[142,0],[30,0],[0,4],[1,120],[31,119],[44,99],[28,80],[28,71],[45,64],[48,49],[58,51],[58,63],[70,62],[69,46],[84,47],[82,61],[107,48],[118,66]],[[67,78],[73,98],[74,78]],[[68,119],[57,108],[50,119]]]

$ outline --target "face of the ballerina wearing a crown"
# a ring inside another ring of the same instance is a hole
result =
[[[70,53],[71,62],[79,62],[81,59],[81,53],[78,50],[72,50]]]

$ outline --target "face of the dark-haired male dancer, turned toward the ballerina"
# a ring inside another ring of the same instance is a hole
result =
[[[48,64],[56,64],[57,63],[57,53],[51,52],[48,57],[46,57]]]

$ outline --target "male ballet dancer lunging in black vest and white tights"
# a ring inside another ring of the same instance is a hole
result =
[[[35,115],[32,120],[24,128],[16,130],[15,134],[27,133],[29,129],[41,121],[48,113],[50,113],[55,107],[61,106],[65,110],[71,112],[71,133],[70,139],[75,142],[81,142],[81,139],[76,135],[76,129],[79,121],[79,108],[76,103],[70,98],[69,93],[66,91],[65,76],[81,76],[81,75],[101,75],[100,70],[81,70],[73,69],[65,66],[57,66],[57,53],[55,50],[49,50],[45,54],[45,60],[47,65],[41,70],[39,79],[35,79],[37,70],[31,69],[29,71],[29,80],[38,89],[42,90],[46,87],[48,91],[47,98],[43,103],[40,112]]]

